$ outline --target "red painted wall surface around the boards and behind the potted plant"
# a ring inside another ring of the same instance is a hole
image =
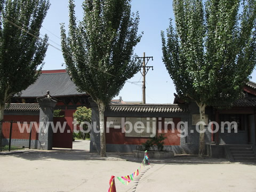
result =
[[[164,140],[164,145],[180,145],[180,137],[178,137],[177,124],[180,122],[180,118],[173,118],[175,132],[172,133],[170,126],[167,133],[164,133],[166,139]],[[105,123],[106,124],[106,123]],[[105,126],[106,127],[106,126]],[[157,134],[158,133],[158,118],[157,118]],[[164,118],[162,118],[162,130],[164,132]],[[121,145],[142,145],[149,138],[141,137],[125,137],[125,133],[122,133],[122,129],[109,128],[109,133],[106,133],[106,143],[107,144],[121,144]]]

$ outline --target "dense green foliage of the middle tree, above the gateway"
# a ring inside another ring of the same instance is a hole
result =
[[[61,46],[68,71],[81,91],[108,105],[140,65],[133,56],[139,15],[130,0],[85,0],[78,24],[74,1],[69,1],[69,33],[61,26]]]

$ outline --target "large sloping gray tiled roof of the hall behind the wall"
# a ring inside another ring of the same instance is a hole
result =
[[[21,92],[21,98],[36,98],[46,94],[49,90],[53,97],[63,97],[72,95],[84,95],[77,91],[77,87],[71,81],[68,73],[41,74],[36,82]]]

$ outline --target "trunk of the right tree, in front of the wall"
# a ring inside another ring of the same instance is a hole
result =
[[[202,103],[197,104],[199,107],[200,121],[205,122],[205,105]],[[204,125],[200,124],[200,133],[199,133],[199,150],[198,155],[200,157],[204,156],[205,141],[204,141]]]

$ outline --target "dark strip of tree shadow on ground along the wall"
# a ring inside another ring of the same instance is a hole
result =
[[[141,163],[141,158],[133,157],[132,153],[107,153],[107,157],[100,157],[98,153],[90,153],[83,149],[54,149],[54,150],[29,150],[25,153],[10,154],[11,156],[27,159],[28,161],[50,161],[58,159],[63,161],[130,161]],[[9,156],[10,156],[9,155]],[[152,164],[231,164],[225,158],[197,157],[196,155],[177,155],[169,159],[149,159]],[[255,166],[256,162],[236,162]]]

